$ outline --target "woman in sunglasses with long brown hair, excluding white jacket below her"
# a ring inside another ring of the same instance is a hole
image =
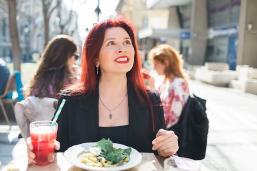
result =
[[[77,83],[74,64],[78,58],[76,44],[70,36],[55,36],[41,56],[27,96],[56,98],[65,85]]]

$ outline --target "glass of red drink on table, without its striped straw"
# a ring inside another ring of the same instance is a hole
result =
[[[58,124],[52,121],[35,121],[30,123],[30,138],[33,145],[33,153],[36,158],[35,165],[48,165],[54,161],[54,145],[57,136]]]

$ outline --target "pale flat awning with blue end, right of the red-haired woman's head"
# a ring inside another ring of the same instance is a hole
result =
[[[186,35],[186,37],[185,37]],[[176,38],[176,39],[190,39],[189,29],[154,29],[151,27],[142,28],[139,30],[138,38]]]

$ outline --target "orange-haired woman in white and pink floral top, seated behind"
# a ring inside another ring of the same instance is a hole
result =
[[[189,96],[187,76],[183,73],[181,55],[168,44],[161,44],[149,52],[154,69],[159,75],[164,75],[164,81],[156,91],[164,105],[166,128],[176,124]],[[152,78],[148,79],[151,89],[155,89]]]

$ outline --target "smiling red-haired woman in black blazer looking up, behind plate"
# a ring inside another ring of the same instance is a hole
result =
[[[144,88],[140,69],[132,22],[118,15],[95,24],[82,51],[81,83],[59,100],[58,106],[67,101],[57,119],[56,149],[110,138],[140,152],[175,154],[177,136],[165,130],[161,100]],[[29,143],[28,149],[32,163]]]

